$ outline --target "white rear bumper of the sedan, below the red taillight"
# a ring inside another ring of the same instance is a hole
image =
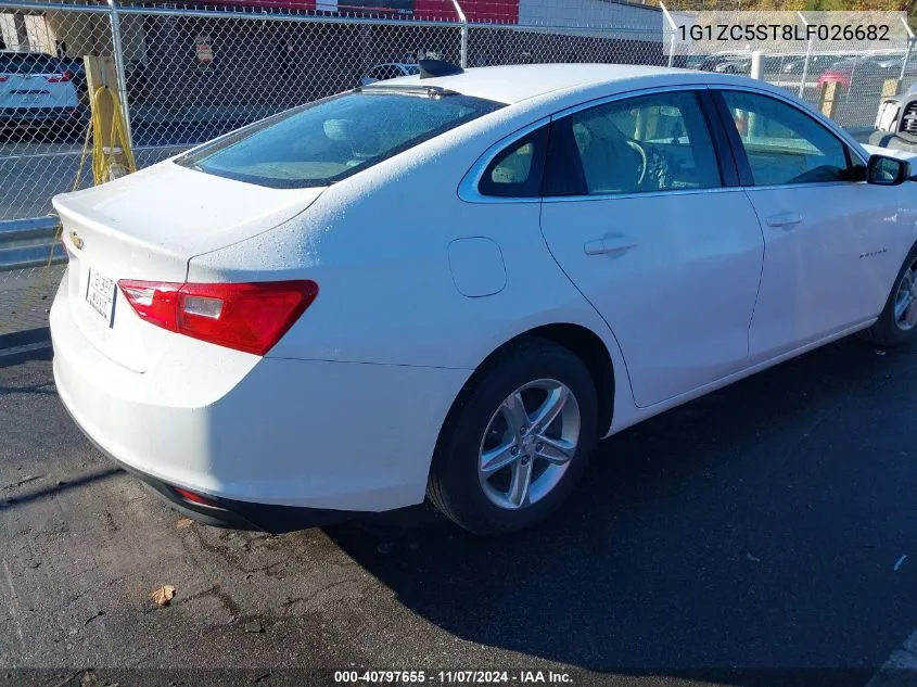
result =
[[[214,514],[179,488],[220,506],[218,520],[284,531],[423,500],[469,371],[257,358],[176,334],[132,372],[86,338],[66,284],[50,318],[64,406],[104,454],[182,508]]]

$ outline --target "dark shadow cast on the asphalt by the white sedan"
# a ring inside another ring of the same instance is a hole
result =
[[[917,535],[896,457],[915,369],[913,349],[846,340],[676,408],[600,444],[525,534],[475,538],[429,506],[327,533],[419,616],[523,658],[863,684],[913,629],[895,611],[913,587],[884,581]]]

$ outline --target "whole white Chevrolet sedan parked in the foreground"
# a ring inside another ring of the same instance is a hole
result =
[[[60,395],[180,509],[279,532],[429,497],[517,531],[601,437],[915,336],[908,163],[786,91],[422,67],[54,199]]]

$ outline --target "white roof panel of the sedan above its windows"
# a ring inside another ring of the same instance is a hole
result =
[[[665,77],[672,84],[679,80],[678,75],[684,75],[685,82],[697,82],[701,75],[705,80],[709,79],[709,75],[703,72],[633,64],[517,64],[471,67],[461,74],[425,79],[405,76],[386,84],[435,86],[464,96],[513,104],[557,91],[587,90],[635,79],[646,80],[647,86],[652,86],[657,78],[661,80]]]

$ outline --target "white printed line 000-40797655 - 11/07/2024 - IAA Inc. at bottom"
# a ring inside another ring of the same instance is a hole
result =
[[[423,684],[441,685],[572,685],[563,671],[334,671],[334,682],[346,684]]]

